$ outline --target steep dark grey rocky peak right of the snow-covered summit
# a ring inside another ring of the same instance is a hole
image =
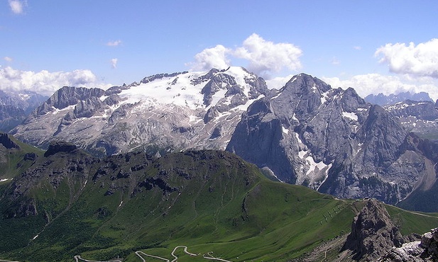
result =
[[[332,89],[294,76],[242,116],[227,150],[272,171],[281,181],[343,198],[397,203],[432,169],[407,132],[354,89]]]

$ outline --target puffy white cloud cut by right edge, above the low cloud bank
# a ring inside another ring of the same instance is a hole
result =
[[[438,79],[438,39],[418,45],[389,43],[378,48],[375,55],[380,63],[388,64],[390,72]]]

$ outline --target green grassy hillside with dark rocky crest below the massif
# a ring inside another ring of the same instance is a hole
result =
[[[160,159],[61,152],[40,157],[5,188],[0,258],[141,261],[134,252],[143,251],[172,260],[173,249],[183,245],[199,255],[177,249],[180,262],[208,261],[202,254],[228,261],[288,261],[348,233],[362,206],[270,181],[228,152],[180,152]],[[405,223],[405,233],[426,227],[407,226],[418,221],[413,213],[393,214]],[[429,218],[427,227],[438,221]]]

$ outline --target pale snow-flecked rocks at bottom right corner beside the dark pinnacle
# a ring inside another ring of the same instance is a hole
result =
[[[420,262],[438,261],[438,228],[422,235],[421,241],[403,244],[390,249],[378,259],[379,262]]]

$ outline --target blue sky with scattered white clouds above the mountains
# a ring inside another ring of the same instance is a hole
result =
[[[243,66],[438,98],[436,1],[0,0],[0,89],[51,93]]]

